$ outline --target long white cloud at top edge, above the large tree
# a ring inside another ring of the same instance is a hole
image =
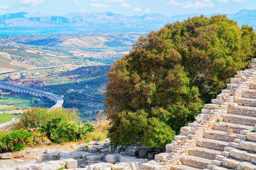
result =
[[[244,1],[244,0],[235,0],[235,1]],[[175,6],[181,6],[181,8],[195,8],[195,10],[205,7],[214,7],[215,5],[210,0],[203,0],[203,1],[196,1],[195,3],[191,1],[187,2],[176,2],[174,0],[171,0],[170,2],[166,2],[167,5],[175,5]]]

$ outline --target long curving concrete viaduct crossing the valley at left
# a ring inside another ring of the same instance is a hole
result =
[[[0,88],[3,88],[5,90],[11,90],[13,92],[18,92],[18,93],[47,97],[48,99],[51,99],[52,101],[55,101],[55,103],[56,103],[55,105],[53,105],[53,107],[51,107],[49,109],[62,108],[62,105],[63,105],[62,97],[52,94],[50,92],[36,90],[34,88],[23,87],[23,86],[19,86],[16,84],[11,84],[11,83],[1,82],[1,81],[0,81]]]

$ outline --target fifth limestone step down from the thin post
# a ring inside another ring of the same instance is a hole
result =
[[[201,147],[224,151],[224,148],[229,145],[229,142],[218,141],[215,139],[201,138],[196,141],[196,144]]]

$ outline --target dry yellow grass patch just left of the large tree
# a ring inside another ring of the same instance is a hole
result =
[[[108,128],[109,128],[109,121],[100,121],[94,123],[95,130],[92,131],[89,135],[87,140],[88,141],[102,141],[106,139],[108,134]]]

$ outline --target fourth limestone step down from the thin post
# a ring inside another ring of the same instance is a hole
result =
[[[246,139],[246,135],[237,134],[237,133],[229,134],[227,131],[221,131],[221,130],[205,130],[204,138],[233,142],[234,139],[236,138]]]

